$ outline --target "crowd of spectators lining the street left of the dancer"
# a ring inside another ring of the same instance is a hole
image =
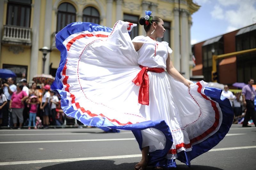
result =
[[[60,96],[51,91],[50,85],[33,83],[28,87],[25,78],[14,82],[15,78],[1,80],[0,128],[49,129],[49,125],[63,124]]]

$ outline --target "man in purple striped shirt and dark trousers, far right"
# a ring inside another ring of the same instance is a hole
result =
[[[243,103],[244,103],[244,107],[246,107],[243,127],[251,127],[251,126],[248,126],[248,121],[250,120],[250,117],[252,117],[252,121],[256,126],[256,111],[254,108],[255,107],[254,99],[255,99],[256,92],[254,87],[252,87],[253,84],[254,84],[254,79],[250,78],[248,80],[248,85],[245,85],[242,89]]]

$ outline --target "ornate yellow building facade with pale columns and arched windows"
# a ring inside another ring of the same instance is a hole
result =
[[[138,24],[133,38],[145,35],[139,19],[150,10],[164,20],[166,32],[159,41],[169,43],[172,63],[189,79],[191,14],[199,7],[192,0],[0,0],[0,68],[15,72],[17,80],[25,74],[31,82],[43,73],[44,55],[39,49],[48,47],[44,73],[55,77],[60,63],[55,35],[67,24],[93,22],[112,28],[118,20],[129,21]]]

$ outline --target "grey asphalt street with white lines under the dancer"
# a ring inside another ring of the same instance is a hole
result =
[[[0,169],[132,170],[141,152],[131,131],[103,133],[98,128],[1,129]],[[255,170],[256,128],[232,125],[212,150],[177,170]],[[153,169],[151,166],[147,170]]]

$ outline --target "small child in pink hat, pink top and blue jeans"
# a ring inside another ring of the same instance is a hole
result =
[[[30,100],[28,100],[27,103],[30,105],[28,129],[30,129],[32,120],[33,120],[34,129],[37,129],[36,128],[36,112],[37,112],[37,106],[40,102],[37,99],[37,96],[33,95],[30,97]]]

